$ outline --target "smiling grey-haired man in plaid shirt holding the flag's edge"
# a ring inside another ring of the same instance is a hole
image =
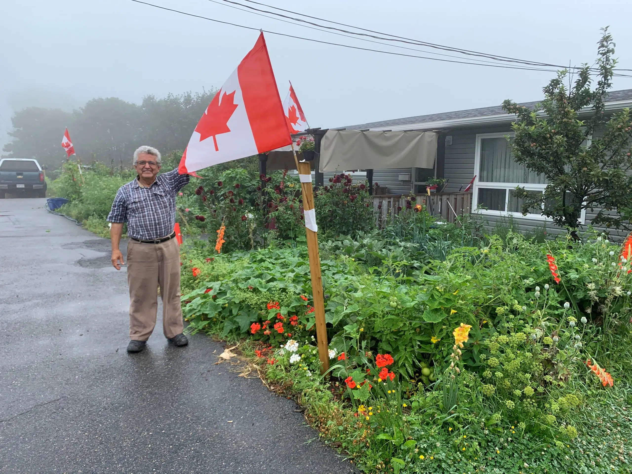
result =
[[[119,188],[107,220],[112,222],[112,265],[121,269],[119,250],[123,224],[127,222],[127,283],[130,287],[130,344],[127,351],[140,352],[154,331],[158,288],[162,298],[162,331],[170,343],[182,347],[180,307],[180,255],[174,233],[176,193],[189,182],[178,169],[156,176],[161,168],[160,152],[143,146],[134,152],[138,176]]]

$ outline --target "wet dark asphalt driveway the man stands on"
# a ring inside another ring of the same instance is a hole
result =
[[[173,348],[159,320],[128,355],[109,240],[43,205],[0,200],[0,472],[355,472],[293,401],[215,365],[222,344]]]

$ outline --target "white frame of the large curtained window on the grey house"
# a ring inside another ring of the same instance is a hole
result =
[[[474,174],[476,178],[472,185],[472,212],[478,214],[486,214],[487,216],[499,216],[499,217],[515,217],[516,219],[530,219],[532,221],[545,221],[552,222],[552,219],[542,214],[526,214],[523,216],[521,212],[511,212],[507,210],[509,208],[509,191],[516,189],[516,186],[521,186],[527,191],[542,191],[547,188],[547,185],[538,185],[531,183],[496,183],[492,181],[480,181],[480,149],[481,141],[483,138],[502,138],[502,137],[515,137],[513,132],[507,133],[477,133],[476,135],[476,148],[474,154]],[[478,190],[479,189],[505,189],[505,210],[490,210],[490,209],[478,209]],[[543,208],[544,209],[544,204]],[[586,210],[581,210],[580,224],[583,224],[586,220]]]

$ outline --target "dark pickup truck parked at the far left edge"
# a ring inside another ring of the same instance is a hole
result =
[[[0,199],[6,193],[46,197],[44,171],[37,160],[4,158],[0,160]]]

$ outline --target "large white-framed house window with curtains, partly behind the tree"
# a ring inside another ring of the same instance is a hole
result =
[[[483,133],[477,135],[474,168],[477,178],[473,187],[473,209],[492,216],[527,217],[547,220],[542,208],[530,209],[522,215],[523,200],[516,197],[516,186],[521,186],[534,195],[542,194],[547,182],[542,174],[533,173],[516,163],[506,135],[513,133]],[[544,206],[544,204],[543,204]],[[585,212],[581,214],[583,223]]]

